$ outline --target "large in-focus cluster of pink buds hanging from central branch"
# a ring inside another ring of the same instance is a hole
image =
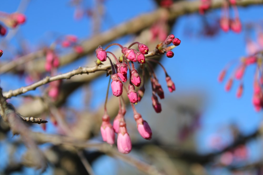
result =
[[[130,44],[130,46],[128,47],[123,47],[118,43],[113,43],[108,45],[105,49],[103,49],[101,46],[99,46],[96,49],[98,65],[100,64],[100,62],[106,61],[107,58],[110,61],[110,64],[112,66],[112,75],[111,75],[112,82],[110,84],[112,88],[112,94],[116,97],[119,97],[119,112],[114,119],[113,126],[109,122],[109,116],[106,110],[106,103],[107,103],[107,97],[106,97],[105,113],[103,115],[102,125],[101,125],[102,137],[104,141],[108,142],[109,144],[113,144],[115,136],[112,133],[116,132],[118,134],[117,146],[120,152],[129,153],[131,151],[131,140],[127,132],[126,123],[124,120],[126,109],[124,102],[122,102],[123,89],[124,91],[126,91],[128,99],[130,100],[130,104],[133,108],[134,119],[136,121],[139,134],[144,139],[150,140],[152,135],[150,126],[145,120],[142,119],[141,115],[136,111],[134,107],[134,104],[137,104],[142,99],[145,92],[145,87],[144,87],[145,67],[148,68],[149,70],[151,87],[152,87],[152,102],[153,102],[153,108],[156,113],[161,112],[161,104],[159,103],[157,96],[159,96],[160,99],[163,99],[164,91],[160,83],[158,82],[158,79],[154,73],[153,66],[150,64],[150,62],[158,63],[163,68],[165,72],[165,80],[167,83],[167,87],[170,92],[175,91],[175,85],[174,82],[171,80],[171,77],[168,75],[165,68],[163,67],[163,65],[161,65],[160,62],[150,58],[146,59],[146,57],[165,54],[165,53],[167,57],[173,57],[174,53],[171,51],[171,49],[180,45],[180,43],[181,41],[178,38],[175,38],[174,35],[169,35],[164,42],[158,44],[155,50],[151,52],[149,52],[149,48],[145,44],[139,42],[134,42]],[[170,44],[173,45],[169,46]],[[113,45],[117,45],[121,48],[122,55],[119,57],[119,59],[117,59],[117,57],[112,52],[106,51],[110,46]],[[133,45],[137,45],[138,50],[132,49],[131,46]],[[110,59],[109,55],[111,55],[114,58],[114,61]],[[139,71],[135,68],[136,62],[138,62],[139,64],[138,67],[142,71],[143,82],[141,76],[139,75]],[[128,80],[127,75],[129,75],[129,82],[127,82]],[[125,82],[127,82],[128,88],[124,86],[123,83]],[[135,87],[140,87],[137,92]]]

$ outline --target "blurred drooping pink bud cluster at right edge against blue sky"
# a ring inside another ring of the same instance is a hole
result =
[[[226,83],[225,86],[225,90],[226,91],[230,91],[234,78],[240,81],[239,87],[237,89],[237,93],[236,96],[237,98],[240,98],[242,96],[243,93],[243,82],[242,82],[242,78],[244,76],[245,70],[247,68],[247,66],[249,65],[256,65],[256,72],[254,75],[254,83],[253,83],[253,87],[254,87],[254,93],[253,93],[253,98],[252,98],[252,103],[255,107],[256,111],[259,111],[262,107],[263,107],[263,91],[262,91],[262,85],[263,85],[263,74],[262,72],[259,70],[260,67],[262,67],[262,53],[257,53],[255,55],[249,56],[249,57],[245,57],[245,58],[241,58],[241,63],[239,66],[237,66],[235,72],[233,72],[232,76],[229,78],[229,80]],[[225,75],[226,75],[226,71],[229,68],[229,65],[220,72],[219,74],[219,82],[222,82]]]

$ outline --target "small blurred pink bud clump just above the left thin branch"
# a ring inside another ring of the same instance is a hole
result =
[[[46,51],[46,62],[45,62],[45,70],[50,72],[52,68],[57,68],[59,66],[59,58],[57,54],[55,54],[54,50],[48,49]]]

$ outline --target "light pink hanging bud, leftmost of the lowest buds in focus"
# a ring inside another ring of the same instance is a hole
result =
[[[107,142],[110,145],[114,144],[115,134],[113,127],[110,124],[110,117],[105,113],[102,117],[102,124],[100,126],[100,132],[102,135],[103,141]]]

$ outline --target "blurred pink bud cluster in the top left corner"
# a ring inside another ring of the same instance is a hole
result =
[[[0,12],[0,21],[3,22],[9,28],[15,28],[19,24],[26,22],[26,16],[22,13],[5,13]],[[6,34],[6,28],[0,24],[0,35]]]

